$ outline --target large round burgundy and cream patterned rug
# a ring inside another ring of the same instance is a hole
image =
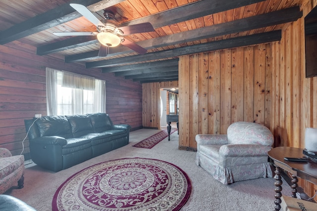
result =
[[[53,211],[178,211],[191,182],[179,167],[155,159],[125,158],[83,169],[53,197]]]

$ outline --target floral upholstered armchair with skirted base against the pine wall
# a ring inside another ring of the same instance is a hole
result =
[[[196,135],[196,164],[223,184],[272,177],[267,152],[273,141],[267,127],[236,122],[228,127],[226,135]]]

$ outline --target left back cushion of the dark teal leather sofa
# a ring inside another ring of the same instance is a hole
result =
[[[40,136],[61,136],[63,138],[73,137],[70,125],[64,116],[47,116],[38,119],[35,124],[38,126]]]

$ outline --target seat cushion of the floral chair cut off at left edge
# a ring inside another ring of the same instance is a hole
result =
[[[11,157],[1,158],[0,160],[0,179],[14,172],[21,165],[24,165],[24,156],[15,155]]]

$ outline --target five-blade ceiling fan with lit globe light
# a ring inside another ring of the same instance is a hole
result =
[[[109,54],[109,47],[115,47],[122,44],[139,54],[145,54],[147,49],[140,45],[124,39],[124,35],[136,33],[154,32],[151,23],[140,23],[131,26],[119,27],[119,24],[114,20],[114,15],[110,11],[104,12],[105,19],[99,20],[86,6],[76,3],[71,3],[71,7],[77,10],[80,14],[86,17],[97,27],[97,32],[54,32],[56,36],[97,36],[101,43],[98,56],[106,56]]]

